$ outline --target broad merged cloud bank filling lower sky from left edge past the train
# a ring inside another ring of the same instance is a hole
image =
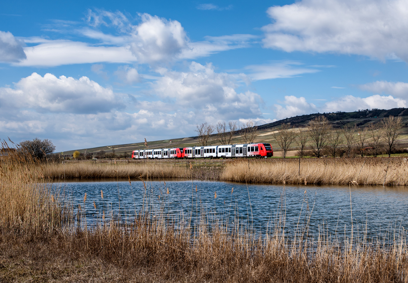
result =
[[[98,71],[101,66],[95,67]],[[124,75],[134,68],[124,66]],[[264,119],[262,99],[236,75],[216,73],[211,64],[191,63],[186,72],[160,69],[151,90],[137,97],[114,93],[82,77],[33,73],[12,88],[0,88],[0,133],[15,142],[49,138],[57,150],[127,144],[195,135],[195,124]],[[126,77],[124,77],[125,79]],[[129,80],[132,78],[130,77]]]

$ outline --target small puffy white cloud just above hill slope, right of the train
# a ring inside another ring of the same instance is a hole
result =
[[[306,102],[306,99],[304,97],[285,95],[285,101],[282,102],[282,104],[285,104],[285,107],[279,104],[275,104],[275,114],[277,119],[284,119],[296,115],[317,112],[316,105]]]

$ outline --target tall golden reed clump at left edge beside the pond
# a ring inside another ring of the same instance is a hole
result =
[[[4,141],[2,148],[8,148]],[[53,232],[62,225],[58,192],[44,182],[41,166],[11,151],[0,159],[0,229],[24,233]]]

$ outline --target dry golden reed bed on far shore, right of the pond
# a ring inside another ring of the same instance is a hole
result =
[[[388,164],[388,161],[389,164]],[[408,185],[408,162],[404,158],[324,158],[235,161],[228,164],[223,181],[274,184]],[[388,168],[388,170],[387,170]]]

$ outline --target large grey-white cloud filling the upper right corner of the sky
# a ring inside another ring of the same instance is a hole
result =
[[[405,0],[302,0],[267,13],[267,48],[408,60]]]

